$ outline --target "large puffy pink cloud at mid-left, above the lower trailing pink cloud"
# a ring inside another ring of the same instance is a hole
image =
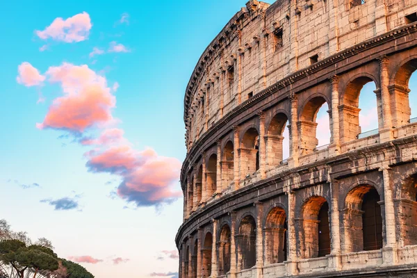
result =
[[[87,65],[63,63],[49,67],[51,83],[60,83],[64,96],[54,99],[39,129],[63,129],[82,133],[99,124],[113,122],[111,115],[115,97],[111,95],[106,79],[90,70]]]

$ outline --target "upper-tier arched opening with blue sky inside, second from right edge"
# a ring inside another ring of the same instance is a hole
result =
[[[375,82],[366,76],[351,81],[343,95],[343,105],[339,106],[342,142],[365,138],[378,133],[382,126],[381,93]]]

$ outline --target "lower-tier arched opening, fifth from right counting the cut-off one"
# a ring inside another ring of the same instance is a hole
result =
[[[256,222],[251,215],[240,222],[238,245],[238,270],[252,268],[256,263]]]

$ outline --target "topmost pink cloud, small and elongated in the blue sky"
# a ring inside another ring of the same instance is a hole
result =
[[[37,30],[35,33],[42,40],[51,38],[62,42],[81,42],[88,39],[91,27],[90,15],[83,12],[65,20],[57,17],[43,31]]]

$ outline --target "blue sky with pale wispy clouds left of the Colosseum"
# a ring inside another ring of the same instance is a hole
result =
[[[49,238],[58,255],[86,261],[81,264],[98,278],[175,276],[178,263],[171,257],[183,201],[172,165],[186,155],[183,94],[199,56],[244,5],[241,0],[3,3],[0,218],[33,240]],[[92,24],[83,38],[54,37],[45,29],[58,17],[83,12]],[[95,47],[103,53],[90,56]],[[17,82],[24,62],[38,70],[38,79]],[[67,79],[51,67],[67,71]],[[100,92],[114,97],[102,111],[112,120],[92,121],[82,131],[48,121],[53,101],[84,89],[65,92],[63,83],[76,70],[92,74]],[[40,123],[43,129],[37,128]],[[117,146],[86,143],[108,130],[117,131]],[[136,160],[104,165],[101,158],[113,147],[124,148],[122,158]],[[147,186],[167,187],[145,199],[132,190],[117,191],[145,183],[143,161],[172,166],[168,177],[147,168],[160,178]]]

